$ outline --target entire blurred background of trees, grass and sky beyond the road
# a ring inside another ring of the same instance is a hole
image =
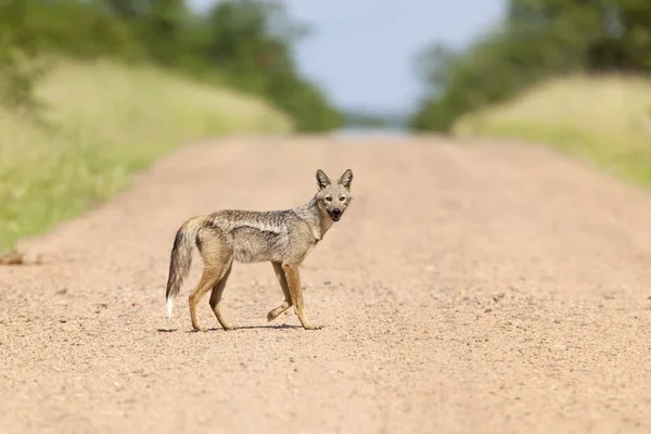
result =
[[[0,0],[0,250],[235,132],[545,142],[651,184],[649,0]]]

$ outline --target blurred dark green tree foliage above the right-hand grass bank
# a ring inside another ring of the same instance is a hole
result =
[[[429,93],[410,120],[448,131],[464,113],[553,76],[651,72],[648,0],[510,0],[500,26],[469,49],[434,44],[417,67]]]

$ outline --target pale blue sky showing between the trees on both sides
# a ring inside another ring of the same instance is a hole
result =
[[[215,0],[190,0],[204,10]],[[340,108],[409,113],[422,95],[414,68],[433,42],[464,47],[501,20],[505,0],[285,0],[309,25],[302,72]]]

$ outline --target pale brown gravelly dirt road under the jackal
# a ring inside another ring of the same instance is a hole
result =
[[[219,329],[165,282],[180,222],[355,203],[303,267],[305,331],[270,264],[235,265]],[[0,268],[0,431],[649,433],[651,197],[534,146],[227,138],[159,162]],[[291,310],[290,310],[291,311]]]

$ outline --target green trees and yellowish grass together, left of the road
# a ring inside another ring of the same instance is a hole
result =
[[[0,250],[189,141],[336,128],[292,56],[306,35],[272,1],[0,0]]]

